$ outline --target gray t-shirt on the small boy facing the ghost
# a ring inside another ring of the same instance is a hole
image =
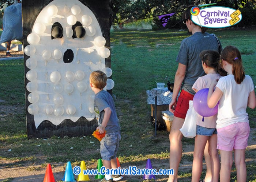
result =
[[[105,127],[106,134],[111,132],[116,132],[120,130],[119,120],[117,118],[117,113],[114,105],[114,100],[109,92],[102,90],[95,94],[94,97],[94,111],[96,119],[98,120],[99,125],[102,123],[103,116],[105,114],[104,109],[110,107],[111,115],[108,121],[107,126]]]

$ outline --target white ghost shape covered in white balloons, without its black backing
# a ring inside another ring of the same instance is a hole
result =
[[[27,41],[27,111],[35,127],[44,120],[58,125],[81,116],[94,119],[90,73],[102,70],[109,77],[112,70],[105,67],[110,51],[93,12],[78,0],[53,0],[39,13]],[[105,89],[113,86],[108,79]]]

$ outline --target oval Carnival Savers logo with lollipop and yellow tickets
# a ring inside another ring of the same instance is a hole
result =
[[[227,7],[191,8],[191,20],[207,28],[231,27],[242,20],[239,10]]]

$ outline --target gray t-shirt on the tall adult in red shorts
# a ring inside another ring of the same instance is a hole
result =
[[[181,89],[192,95],[195,94],[192,86],[196,79],[205,75],[202,60],[199,57],[200,52],[204,50],[218,51],[218,41],[210,33],[196,32],[181,41],[180,51],[176,59],[176,62],[187,66]]]

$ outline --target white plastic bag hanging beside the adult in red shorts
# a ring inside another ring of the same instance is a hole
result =
[[[194,138],[196,136],[196,120],[199,119],[199,114],[193,107],[193,100],[189,100],[189,108],[186,114],[185,121],[180,128],[180,131],[186,138]]]

